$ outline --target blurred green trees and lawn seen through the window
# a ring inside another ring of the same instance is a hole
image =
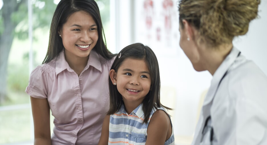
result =
[[[96,0],[106,36],[110,0]],[[31,0],[33,68],[46,55],[49,28],[59,0]],[[29,142],[33,124],[29,95],[29,25],[27,0],[0,0],[0,145]],[[107,45],[108,45],[107,38]],[[53,117],[51,117],[52,121]]]

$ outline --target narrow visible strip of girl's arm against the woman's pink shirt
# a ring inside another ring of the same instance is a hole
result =
[[[103,121],[102,125],[102,132],[100,136],[100,140],[98,142],[98,145],[107,145],[108,144],[108,136],[109,136],[109,120],[110,115],[106,115]]]

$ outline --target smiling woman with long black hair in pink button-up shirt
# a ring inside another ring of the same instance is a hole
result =
[[[114,54],[94,0],[61,0],[43,64],[30,76],[35,145],[97,144],[109,109],[108,73]],[[50,110],[54,116],[50,134]]]

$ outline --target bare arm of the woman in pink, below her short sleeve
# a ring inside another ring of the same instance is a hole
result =
[[[34,124],[34,144],[51,145],[50,107],[47,99],[31,97]]]

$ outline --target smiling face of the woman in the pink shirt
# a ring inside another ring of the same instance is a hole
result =
[[[88,57],[98,40],[96,22],[84,11],[70,15],[59,34],[65,48],[66,59]]]

